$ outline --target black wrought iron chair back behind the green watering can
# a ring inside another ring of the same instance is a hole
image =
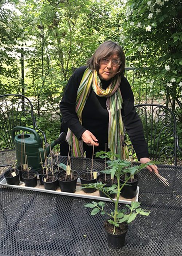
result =
[[[0,167],[8,166],[8,152],[14,149],[11,139],[11,130],[15,126],[28,126],[43,135],[46,143],[46,135],[37,125],[33,114],[31,101],[20,94],[0,95]],[[13,152],[11,152],[12,155]],[[7,157],[5,155],[7,154]]]

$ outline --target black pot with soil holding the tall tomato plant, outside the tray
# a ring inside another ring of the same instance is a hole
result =
[[[120,223],[119,227],[115,228],[115,234],[113,234],[114,225],[108,221],[104,222],[104,229],[107,234],[107,243],[109,247],[119,249],[124,246],[126,232],[128,230],[128,224],[126,222]]]

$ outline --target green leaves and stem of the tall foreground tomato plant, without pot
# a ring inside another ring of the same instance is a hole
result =
[[[103,173],[111,174],[116,176],[117,178],[117,185],[113,184],[110,187],[105,187],[105,184],[102,184],[101,182],[98,183],[90,183],[83,185],[84,188],[96,188],[100,191],[102,191],[108,198],[111,199],[111,201],[115,205],[114,212],[111,211],[111,213],[107,213],[104,210],[105,203],[104,202],[94,202],[88,203],[85,205],[85,207],[91,208],[91,215],[96,215],[100,213],[101,215],[108,215],[110,219],[108,222],[110,222],[112,225],[114,225],[114,232],[115,228],[119,226],[122,222],[130,223],[131,221],[134,221],[134,219],[137,217],[138,214],[148,216],[149,211],[145,211],[142,208],[139,208],[140,203],[139,202],[131,202],[131,206],[126,205],[128,209],[130,210],[130,213],[126,213],[126,210],[118,210],[118,202],[119,202],[119,196],[122,188],[126,185],[127,181],[135,174],[141,171],[141,169],[145,168],[147,164],[142,164],[139,166],[130,167],[130,163],[128,161],[121,160],[120,158],[116,159],[116,155],[112,154],[111,152],[104,152],[100,151],[96,153],[96,156],[99,156],[100,158],[106,158],[110,157],[110,160],[107,161],[108,163],[108,169],[102,171]],[[111,160],[112,159],[112,160]],[[120,176],[124,173],[129,173],[129,175],[126,177],[125,182],[120,186]],[[116,200],[113,200],[110,197],[110,194],[116,193],[117,198]]]

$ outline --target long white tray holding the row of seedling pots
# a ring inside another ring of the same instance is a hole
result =
[[[78,181],[77,181],[78,186],[76,186],[76,192],[75,193],[62,192],[59,187],[57,188],[56,191],[46,190],[46,189],[44,189],[44,185],[40,185],[40,181],[39,181],[38,178],[37,178],[37,186],[34,187],[34,188],[26,187],[25,184],[21,181],[20,181],[19,185],[9,185],[9,184],[7,184],[5,178],[3,180],[1,180],[0,184],[3,185],[4,187],[20,188],[20,189],[26,189],[26,190],[46,192],[46,193],[51,193],[51,194],[75,196],[75,197],[80,197],[80,198],[89,198],[89,199],[111,202],[110,198],[99,196],[99,191],[98,190],[95,191],[94,193],[91,193],[91,194],[85,193],[83,190],[81,190],[80,179],[78,179]],[[119,203],[131,204],[132,201],[138,202],[138,194],[139,194],[139,187],[137,187],[137,195],[134,198],[126,199],[126,198],[123,198],[122,196],[120,196]],[[114,199],[114,200],[116,201],[116,199]]]

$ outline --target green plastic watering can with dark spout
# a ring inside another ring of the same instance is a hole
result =
[[[24,135],[21,133],[15,136],[15,131],[19,130],[28,131],[29,133],[24,133]],[[48,146],[43,150],[42,139],[39,134],[31,128],[16,126],[12,129],[11,135],[15,144],[17,166],[25,164],[25,158],[27,156],[28,165],[31,165],[36,171],[41,169],[41,161],[45,161],[44,152],[46,156],[48,156],[54,146],[63,143],[66,138],[66,134],[62,132],[59,137],[51,143],[51,148]]]

